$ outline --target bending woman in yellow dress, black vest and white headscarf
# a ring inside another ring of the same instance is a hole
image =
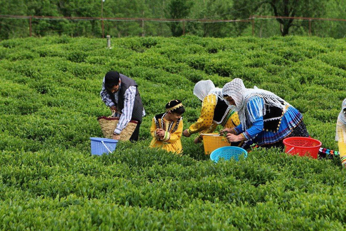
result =
[[[221,88],[216,88],[211,80],[202,80],[196,83],[193,94],[202,101],[201,115],[197,122],[183,132],[189,137],[195,133],[212,133],[218,125],[233,128],[240,124],[238,113],[232,110],[221,95]],[[201,135],[194,140],[201,142]]]

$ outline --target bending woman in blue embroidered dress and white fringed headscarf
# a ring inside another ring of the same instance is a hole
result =
[[[229,142],[252,141],[262,147],[283,147],[286,137],[309,137],[302,114],[285,100],[263,89],[245,88],[234,79],[222,88],[222,94],[235,106],[240,124],[224,129]]]

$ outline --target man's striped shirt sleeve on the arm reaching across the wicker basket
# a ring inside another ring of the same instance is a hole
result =
[[[114,130],[115,133],[120,132],[130,122],[133,112],[133,106],[135,104],[136,86],[129,87],[124,94],[124,109],[122,109],[122,115],[120,116],[117,128]]]

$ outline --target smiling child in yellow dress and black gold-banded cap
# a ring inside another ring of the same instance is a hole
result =
[[[166,104],[166,112],[154,116],[150,128],[153,140],[150,148],[161,147],[167,152],[182,152],[181,135],[183,132],[183,119],[185,112],[180,100],[174,99]]]

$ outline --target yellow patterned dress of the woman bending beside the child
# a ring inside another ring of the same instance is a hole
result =
[[[217,96],[210,94],[203,99],[201,115],[197,119],[197,122],[192,124],[188,132],[190,134],[195,133],[212,133],[215,131],[217,125],[221,124],[226,128],[233,128],[240,124],[238,113],[231,110],[218,110],[217,108]],[[222,113],[222,119],[217,123],[213,118],[216,113]]]

